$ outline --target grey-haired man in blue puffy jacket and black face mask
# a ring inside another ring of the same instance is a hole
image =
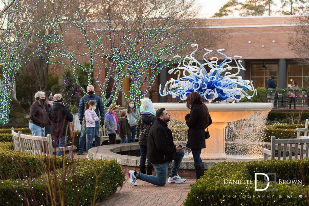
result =
[[[78,119],[80,124],[83,122],[83,116],[85,112],[85,105],[86,102],[89,100],[94,100],[97,103],[95,113],[98,115],[98,117],[101,117],[101,126],[104,125],[104,104],[102,99],[94,94],[94,86],[91,84],[87,86],[87,95],[83,96],[78,105]],[[100,115],[99,115],[100,111]],[[81,129],[80,138],[78,142],[78,153],[77,155],[83,155],[84,154],[84,147],[85,147],[85,141],[86,141],[86,132]],[[95,122],[95,146],[100,146],[100,136],[99,136],[99,121]]]

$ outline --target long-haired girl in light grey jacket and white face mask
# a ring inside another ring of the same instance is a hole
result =
[[[127,112],[127,119],[129,121],[129,125],[131,128],[131,138],[127,139],[127,141],[128,143],[135,142],[136,124],[139,111],[138,109],[136,109],[136,105],[133,100],[129,100],[126,112]]]

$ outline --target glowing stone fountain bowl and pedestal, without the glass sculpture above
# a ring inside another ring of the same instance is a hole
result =
[[[202,159],[225,159],[225,127],[227,122],[233,122],[249,117],[256,112],[263,112],[265,116],[273,108],[272,103],[238,103],[238,104],[206,104],[212,119],[208,127],[210,138],[206,139],[206,148],[202,149]],[[155,109],[165,108],[171,118],[185,121],[184,116],[190,113],[186,104],[154,103]],[[189,154],[190,158],[192,154]]]

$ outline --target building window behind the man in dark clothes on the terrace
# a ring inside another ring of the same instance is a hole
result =
[[[278,84],[278,64],[277,63],[251,63],[251,80],[254,88],[266,88],[267,80],[270,76],[275,76],[275,83]]]

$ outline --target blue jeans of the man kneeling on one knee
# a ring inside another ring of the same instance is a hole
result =
[[[184,150],[181,150],[180,152],[176,152],[173,155],[173,166],[171,168],[170,172],[170,177],[173,177],[178,174],[178,169],[180,167],[181,161],[184,158]],[[138,172],[136,174],[136,177],[138,179],[141,179],[143,181],[149,182],[151,184],[157,185],[157,186],[164,186],[166,184],[166,179],[167,179],[167,171],[168,171],[168,164],[163,163],[163,164],[152,164],[155,168],[155,174],[154,175],[145,175],[141,172]]]

